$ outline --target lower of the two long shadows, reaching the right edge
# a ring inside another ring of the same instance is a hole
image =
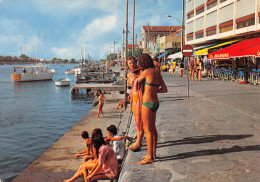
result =
[[[222,149],[210,149],[210,150],[199,150],[193,152],[180,153],[172,156],[158,157],[159,161],[167,160],[177,160],[177,159],[186,159],[191,157],[206,156],[206,155],[217,155],[217,154],[227,154],[233,152],[244,152],[244,151],[259,151],[260,145],[252,146],[233,146],[231,148],[222,148]]]

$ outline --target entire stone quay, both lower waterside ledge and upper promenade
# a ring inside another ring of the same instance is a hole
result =
[[[147,152],[144,139],[141,151],[126,152],[118,181],[260,181],[260,87],[203,78],[190,82],[187,98],[186,76],[163,73],[163,78],[168,93],[159,94],[157,159],[137,165]],[[105,128],[116,124],[119,134],[133,136],[130,112],[120,117],[115,105],[105,103],[104,118],[94,118],[97,108],[90,111],[14,182],[56,182],[73,175],[82,162],[74,158],[84,150],[82,130],[99,127],[105,135]]]

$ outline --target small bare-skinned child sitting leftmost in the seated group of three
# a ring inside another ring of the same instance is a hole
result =
[[[75,157],[84,156],[84,158],[83,158],[83,163],[84,163],[89,159],[93,159],[94,154],[93,154],[93,149],[92,149],[92,141],[91,141],[91,138],[89,138],[88,132],[82,131],[81,136],[86,142],[86,149],[84,151],[76,154]]]

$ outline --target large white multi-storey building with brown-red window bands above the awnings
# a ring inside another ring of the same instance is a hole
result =
[[[186,44],[260,33],[260,0],[186,0]]]

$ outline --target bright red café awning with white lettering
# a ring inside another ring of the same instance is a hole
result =
[[[212,52],[208,59],[229,59],[231,57],[258,56],[260,57],[260,37],[246,39],[224,49]]]

